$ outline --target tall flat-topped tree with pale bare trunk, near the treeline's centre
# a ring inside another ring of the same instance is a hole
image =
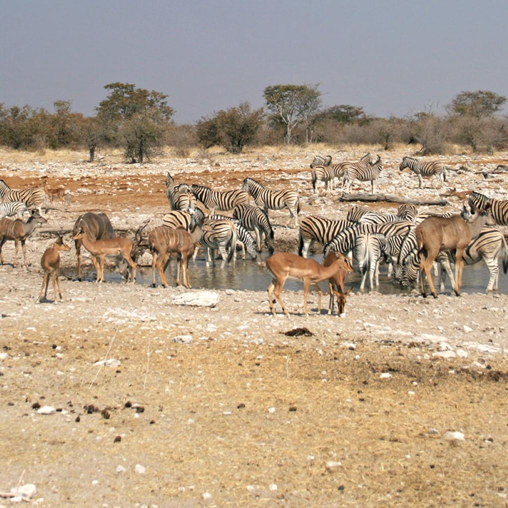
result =
[[[293,129],[304,123],[308,138],[308,128],[312,116],[321,105],[321,92],[317,86],[307,85],[272,85],[263,92],[266,105],[276,121],[285,126],[285,142],[291,142]]]

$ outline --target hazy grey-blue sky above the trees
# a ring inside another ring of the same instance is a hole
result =
[[[508,2],[0,0],[0,103],[86,115],[113,81],[168,95],[193,122],[267,85],[320,83],[369,114],[438,111],[460,91],[508,96]]]

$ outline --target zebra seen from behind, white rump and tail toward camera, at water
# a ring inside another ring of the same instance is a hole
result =
[[[388,241],[385,235],[379,233],[362,233],[357,236],[353,249],[353,255],[358,262],[358,270],[362,275],[360,289],[365,288],[365,279],[369,272],[370,289],[373,289],[373,280],[379,285],[378,264],[384,256],[385,260],[390,255]]]

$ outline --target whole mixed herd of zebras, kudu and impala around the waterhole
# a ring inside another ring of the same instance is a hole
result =
[[[326,189],[334,188],[337,178],[345,192],[349,192],[354,180],[374,182],[382,170],[380,157],[367,153],[359,161],[345,161],[332,164],[332,157],[315,156],[310,164],[311,183],[316,192],[317,182],[325,183]],[[409,168],[419,179],[434,176],[438,184],[446,181],[446,168],[441,162],[423,162],[412,157],[403,157],[400,171]],[[15,242],[16,266],[19,243],[23,250],[25,267],[26,239],[38,225],[46,223],[41,214],[47,199],[56,197],[62,203],[69,203],[70,191],[59,187],[11,189],[0,180],[0,261],[4,264],[2,247],[7,240]],[[116,236],[111,222],[104,213],[87,212],[75,221],[72,238],[77,254],[77,276],[81,280],[81,247],[91,254],[97,282],[104,281],[105,256],[117,257],[117,264],[123,259],[130,267],[127,278],[136,281],[136,258],[141,247],[146,246],[152,253],[152,284],[155,286],[155,272],[161,284],[167,287],[166,268],[171,256],[178,260],[177,285],[190,288],[189,259],[196,259],[198,249],[203,248],[206,264],[215,266],[215,250],[222,258],[221,268],[236,257],[237,245],[252,260],[257,259],[263,244],[270,257],[266,267],[273,275],[268,288],[269,304],[275,314],[273,296],[285,314],[288,311],[281,299],[281,291],[288,277],[303,280],[304,313],[307,313],[307,295],[311,285],[319,292],[318,311],[321,309],[321,290],[319,282],[328,281],[329,310],[333,312],[334,297],[338,312],[344,312],[347,294],[344,283],[348,273],[353,272],[352,260],[356,260],[362,275],[361,289],[364,289],[367,274],[370,288],[378,284],[379,264],[389,265],[388,276],[392,276],[402,287],[414,285],[420,278],[420,289],[427,296],[425,278],[431,294],[437,298],[431,277],[434,262],[441,266],[441,289],[448,275],[456,295],[460,294],[463,265],[471,265],[483,260],[490,278],[487,291],[496,290],[498,284],[498,258],[502,253],[502,266],[508,270],[508,247],[506,239],[495,225],[508,226],[508,201],[490,199],[478,192],[467,191],[468,208],[463,206],[460,215],[453,213],[419,213],[414,205],[401,205],[396,214],[374,212],[360,206],[353,206],[343,219],[309,215],[301,218],[299,224],[298,255],[290,252],[274,254],[274,230],[268,216],[269,210],[287,208],[298,226],[300,198],[296,190],[272,190],[253,178],[245,178],[240,189],[219,192],[204,185],[176,183],[168,173],[166,190],[171,211],[155,227],[147,240],[143,240],[145,221],[135,234],[135,240]],[[250,198],[255,205],[249,204]],[[198,203],[204,205],[207,214]],[[215,211],[232,211],[231,215],[215,214]],[[23,214],[29,217],[23,220]],[[17,217],[17,218],[10,218]],[[313,243],[324,246],[324,263],[308,258]],[[47,296],[49,279],[52,279],[54,302],[62,299],[58,269],[60,251],[70,250],[61,235],[44,252],[41,266],[44,271],[43,283],[38,301]],[[455,264],[455,275],[451,265]],[[436,266],[434,266],[436,270]],[[437,272],[436,272],[437,273]]]

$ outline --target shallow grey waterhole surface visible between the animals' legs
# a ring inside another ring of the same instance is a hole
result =
[[[220,268],[220,261],[218,260],[215,268],[211,266],[207,268],[203,259],[197,259],[196,264],[193,264],[191,261],[189,263],[190,284],[193,288],[203,289],[266,291],[271,281],[271,273],[265,267],[267,257],[268,254],[263,252],[261,260],[259,256],[257,261],[238,259],[235,266],[226,265],[224,269]],[[322,261],[321,255],[313,256],[312,258],[317,262]],[[89,267],[89,269],[91,269],[91,267]],[[68,277],[76,275],[75,269],[73,268],[61,269],[60,273]],[[375,291],[383,294],[404,293],[398,285],[395,285],[388,279],[386,273],[387,267],[384,265],[381,267],[381,273],[379,275],[379,287],[375,288]],[[107,282],[120,282],[122,280],[117,272],[106,272],[105,278]],[[174,260],[171,262],[171,267],[168,268],[167,278],[170,285],[176,285],[176,261]],[[95,280],[95,272],[93,269],[83,272],[83,280]],[[151,267],[144,267],[142,270],[138,270],[136,283],[150,285],[151,280]],[[156,275],[155,280],[157,285],[159,285],[158,275]],[[346,280],[346,286],[353,287],[355,291],[360,291],[360,281],[361,278],[358,272],[349,274]],[[489,271],[485,263],[480,262],[473,266],[466,266],[464,267],[461,291],[483,293],[485,292],[488,281]],[[434,284],[439,293],[439,277],[434,277]],[[320,285],[322,290],[327,291],[326,282],[322,282]],[[303,289],[302,281],[288,279],[284,285],[284,289],[301,291]],[[368,292],[368,280],[367,287],[364,291]],[[447,279],[444,292],[450,293],[451,291],[450,281]],[[498,293],[508,293],[508,276],[503,273],[501,266],[499,267]]]

